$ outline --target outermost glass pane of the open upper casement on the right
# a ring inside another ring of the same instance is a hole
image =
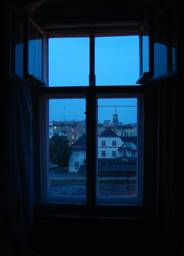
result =
[[[175,70],[174,8],[169,7],[155,19],[154,77]]]

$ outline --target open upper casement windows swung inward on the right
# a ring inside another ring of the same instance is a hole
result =
[[[140,77],[136,84],[158,82],[178,74],[176,5],[149,12],[140,30]]]

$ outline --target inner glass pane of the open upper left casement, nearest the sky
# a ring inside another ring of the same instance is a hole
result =
[[[29,22],[29,74],[42,80],[43,35]]]

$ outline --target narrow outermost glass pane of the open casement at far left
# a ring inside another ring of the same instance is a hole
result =
[[[23,17],[12,9],[11,73],[23,77]]]

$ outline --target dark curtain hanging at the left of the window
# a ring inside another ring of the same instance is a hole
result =
[[[29,246],[33,217],[32,100],[29,87],[11,80],[7,86],[2,220],[9,242],[20,251]]]

